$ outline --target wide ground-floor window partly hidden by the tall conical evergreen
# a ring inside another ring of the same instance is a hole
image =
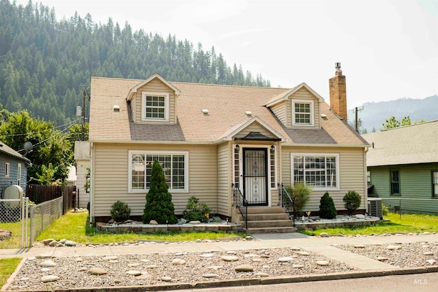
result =
[[[162,165],[169,191],[188,191],[188,152],[134,151],[129,153],[129,191],[149,190],[155,160]]]

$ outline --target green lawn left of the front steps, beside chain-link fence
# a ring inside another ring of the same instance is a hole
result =
[[[36,241],[53,238],[56,240],[68,239],[77,243],[112,243],[129,242],[138,239],[149,239],[156,241],[194,241],[196,239],[220,239],[242,235],[242,233],[225,232],[194,232],[194,233],[107,233],[105,231],[91,228],[87,221],[88,213],[67,213],[59,220],[56,220],[46,228]],[[243,235],[242,235],[243,236]]]

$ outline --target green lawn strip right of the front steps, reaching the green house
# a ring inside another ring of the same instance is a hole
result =
[[[389,222],[380,222],[373,226],[357,226],[349,228],[321,228],[316,230],[302,230],[300,233],[307,235],[372,235],[383,233],[424,233],[438,232],[438,216],[422,214],[402,214],[388,213],[383,216]]]

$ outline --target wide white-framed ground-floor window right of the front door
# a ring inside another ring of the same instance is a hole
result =
[[[292,181],[315,190],[339,189],[339,155],[292,154]]]

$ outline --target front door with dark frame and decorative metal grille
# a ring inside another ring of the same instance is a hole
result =
[[[243,149],[244,196],[248,206],[268,206],[268,155],[266,149]]]

